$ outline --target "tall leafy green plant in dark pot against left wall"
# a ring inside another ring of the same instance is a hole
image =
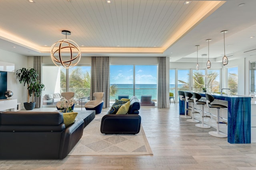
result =
[[[34,96],[40,96],[42,90],[44,90],[44,84],[40,84],[37,81],[38,72],[34,68],[22,68],[16,71],[17,78],[20,84],[27,85],[28,89],[28,100],[24,102],[24,107],[26,110],[32,110],[35,107]],[[30,97],[32,97],[32,102],[30,102]]]

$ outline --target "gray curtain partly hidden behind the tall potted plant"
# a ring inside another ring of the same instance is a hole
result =
[[[41,56],[34,56],[34,69],[38,72],[38,80],[42,83],[42,57]],[[42,107],[42,98],[36,97],[35,98],[36,106],[35,108]]]

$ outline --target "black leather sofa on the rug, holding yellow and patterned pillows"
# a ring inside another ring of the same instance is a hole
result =
[[[130,98],[130,107],[126,115],[104,115],[101,120],[100,132],[105,134],[137,134],[140,132],[140,102],[136,96]]]

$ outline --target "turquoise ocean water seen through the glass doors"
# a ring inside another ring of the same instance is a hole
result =
[[[110,86],[113,84],[110,84]],[[110,101],[118,99],[118,95],[128,94],[129,98],[133,95],[133,84],[114,84],[116,85],[115,96],[110,96]],[[178,87],[182,86],[181,84]],[[175,84],[170,84],[170,92],[175,93]],[[141,95],[152,95],[152,100],[157,100],[157,84],[135,84],[135,96],[140,100]]]

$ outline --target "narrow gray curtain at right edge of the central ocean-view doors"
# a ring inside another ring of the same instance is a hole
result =
[[[166,57],[158,57],[158,108],[167,108],[166,100]]]

